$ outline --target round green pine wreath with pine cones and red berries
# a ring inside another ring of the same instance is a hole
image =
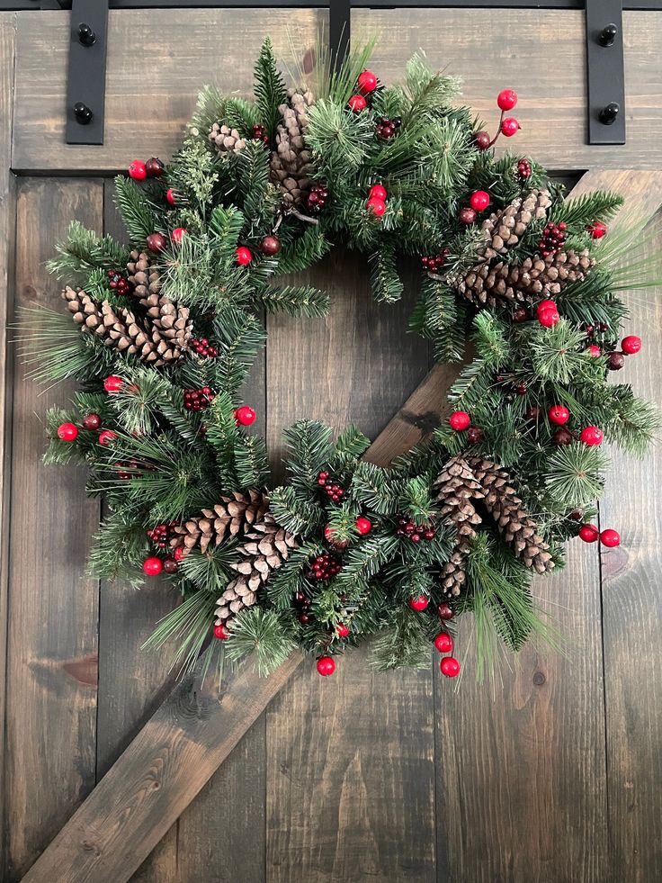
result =
[[[378,635],[380,668],[425,665],[434,641],[453,677],[465,612],[479,668],[497,637],[556,642],[532,574],[561,566],[570,537],[618,545],[591,523],[601,443],[640,455],[658,428],[629,385],[607,383],[641,346],[618,343],[617,293],[647,272],[640,227],[604,235],[621,198],[566,200],[532,159],[497,157],[519,129],[512,90],[491,137],[422,56],[389,87],[366,61],[288,89],[265,41],[255,100],[207,88],[170,163],[116,179],[129,245],[74,222],[50,262],[68,315],[32,316],[37,376],[83,383],[49,411],[46,462],[84,460],[107,501],[92,571],[175,583],[183,602],[151,643],[177,636],[183,666],[255,654],[267,672],[299,646],[328,675]],[[475,357],[448,425],[389,468],[362,460],[357,428],[305,419],[285,432],[287,483],[267,490],[242,383],[263,311],[327,311],[322,291],[274,280],[332,243],[368,256],[378,301],[398,299],[416,257],[411,329],[439,362],[468,334]]]

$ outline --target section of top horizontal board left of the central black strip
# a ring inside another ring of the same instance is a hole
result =
[[[168,158],[206,83],[248,94],[260,45],[298,69],[326,10],[135,9],[109,15],[103,147],[64,143],[70,13],[19,13],[14,169],[124,169]]]

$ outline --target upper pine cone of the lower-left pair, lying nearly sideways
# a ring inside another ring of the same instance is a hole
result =
[[[173,549],[182,547],[183,557],[196,545],[205,553],[210,545],[219,545],[226,536],[237,536],[262,520],[268,508],[269,498],[264,493],[234,491],[231,497],[221,497],[213,509],[202,509],[201,516],[176,527],[170,545]]]

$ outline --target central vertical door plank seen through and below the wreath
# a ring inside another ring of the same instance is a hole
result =
[[[428,370],[407,335],[416,292],[375,304],[360,257],[340,250],[308,275],[330,289],[326,321],[269,320],[267,437],[297,419],[353,422],[374,437]],[[333,679],[308,664],[267,716],[270,883],[434,879],[431,671],[375,675],[366,649]]]

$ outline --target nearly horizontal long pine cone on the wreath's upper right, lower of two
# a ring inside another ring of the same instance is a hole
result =
[[[452,280],[456,290],[476,305],[532,303],[581,282],[595,265],[588,252],[558,251],[549,257],[527,257],[522,264],[478,264]]]

